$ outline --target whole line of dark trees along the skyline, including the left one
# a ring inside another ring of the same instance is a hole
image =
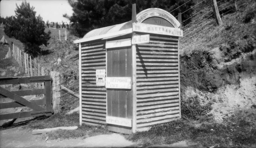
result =
[[[170,12],[173,16],[182,13],[186,25],[191,20],[194,9],[192,6],[198,0],[68,0],[74,13],[71,16],[64,14],[70,20],[69,31],[83,37],[87,32],[95,29],[115,25],[131,20],[132,4],[136,3],[137,13],[147,8],[161,8]],[[45,22],[42,17],[36,16],[34,7],[24,1],[20,6],[16,5],[15,16],[0,18],[5,25],[5,33],[9,37],[14,37],[24,43],[25,52],[33,57],[42,53],[40,45],[47,46],[50,39],[50,31],[45,33],[45,25],[49,26],[49,21]],[[54,22],[52,22],[54,23]],[[54,24],[56,28],[66,27]],[[67,24],[68,25],[68,24]]]

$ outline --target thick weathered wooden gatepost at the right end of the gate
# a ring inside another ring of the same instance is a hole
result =
[[[52,110],[57,113],[61,104],[61,87],[59,85],[59,72],[51,72],[52,78]]]

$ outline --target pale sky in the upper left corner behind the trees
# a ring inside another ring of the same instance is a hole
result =
[[[10,17],[15,16],[16,3],[21,5],[23,0],[1,0],[0,2],[0,16]],[[44,22],[67,22],[67,18],[62,17],[64,13],[72,15],[72,7],[67,0],[26,0],[29,2],[30,7],[35,7],[36,16],[40,15]]]

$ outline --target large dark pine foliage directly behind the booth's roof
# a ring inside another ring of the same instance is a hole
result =
[[[83,37],[87,32],[100,27],[115,25],[131,20],[132,4],[136,2],[137,13],[147,8],[161,8],[177,16],[179,12],[189,9],[194,3],[187,0],[68,0],[73,8],[73,15],[66,17],[71,22],[71,33]],[[186,4],[184,4],[186,3]],[[184,4],[184,5],[183,5]],[[186,20],[193,9],[182,14]],[[185,23],[189,22],[188,19]]]

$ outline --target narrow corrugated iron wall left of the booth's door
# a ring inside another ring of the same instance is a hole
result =
[[[96,69],[106,69],[105,41],[81,43],[82,122],[106,123],[106,88],[96,86]]]

